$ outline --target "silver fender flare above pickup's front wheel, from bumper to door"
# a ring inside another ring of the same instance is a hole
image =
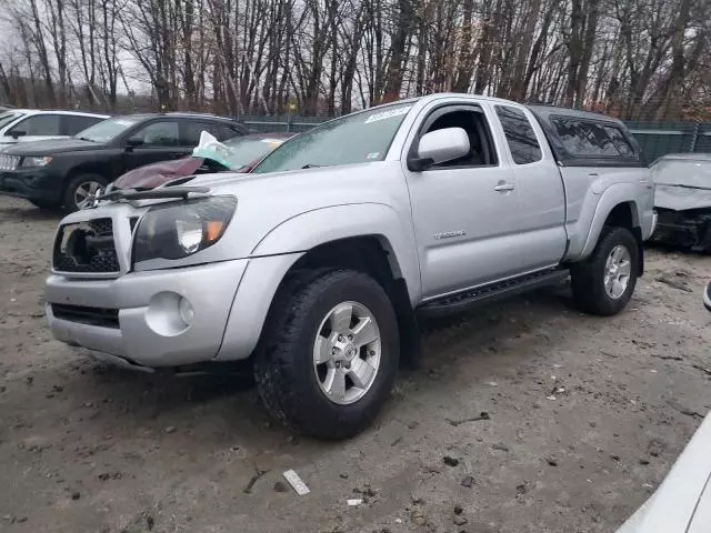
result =
[[[374,237],[388,253],[395,279],[403,279],[410,303],[421,295],[420,264],[410,222],[384,203],[348,203],[306,211],[270,230],[250,257],[303,253],[349,238]]]

